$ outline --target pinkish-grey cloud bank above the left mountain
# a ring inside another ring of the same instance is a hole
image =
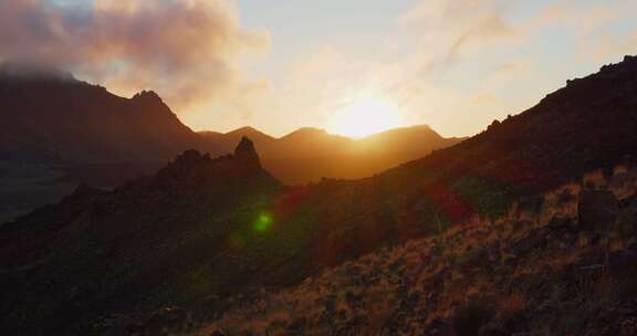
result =
[[[241,90],[237,60],[268,44],[223,0],[0,1],[0,59],[63,67],[118,93],[157,90],[177,107]]]

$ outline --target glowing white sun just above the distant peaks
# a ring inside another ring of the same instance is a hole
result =
[[[328,130],[358,138],[401,124],[400,113],[395,105],[376,97],[362,97],[337,109],[330,120]]]

